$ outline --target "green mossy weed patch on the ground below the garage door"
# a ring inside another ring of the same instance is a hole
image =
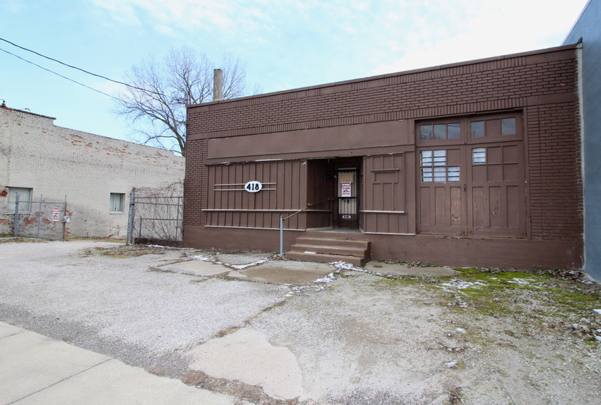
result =
[[[601,343],[601,285],[579,271],[560,269],[536,272],[496,268],[456,269],[453,277],[384,277],[380,289],[421,287],[435,293],[458,315],[474,313],[513,318],[531,328],[550,328],[579,337],[587,344]]]

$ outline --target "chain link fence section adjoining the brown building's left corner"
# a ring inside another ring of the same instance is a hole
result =
[[[182,183],[160,189],[132,189],[129,196],[127,243],[180,245],[183,238]]]

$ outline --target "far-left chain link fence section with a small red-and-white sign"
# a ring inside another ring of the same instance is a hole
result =
[[[14,202],[14,236],[28,236],[50,240],[65,240],[67,196],[63,201],[20,200]]]

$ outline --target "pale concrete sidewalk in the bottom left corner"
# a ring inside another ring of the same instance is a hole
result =
[[[0,322],[0,404],[234,404],[112,357]]]

